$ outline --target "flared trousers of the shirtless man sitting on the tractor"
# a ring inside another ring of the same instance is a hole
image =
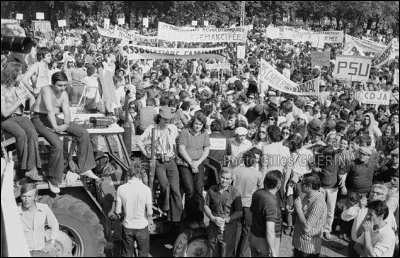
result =
[[[60,135],[50,131],[52,128],[47,115],[35,114],[32,115],[32,122],[36,131],[41,134],[50,144],[50,157],[48,164],[48,177],[52,184],[58,185],[63,178],[64,170],[64,153],[63,144],[60,140]],[[57,125],[64,123],[63,119],[56,117]],[[49,128],[47,128],[49,127]],[[78,150],[78,173],[83,173],[96,167],[96,162],[93,156],[93,148],[90,142],[88,131],[71,122],[68,129],[65,131],[72,135],[73,139],[77,142]]]

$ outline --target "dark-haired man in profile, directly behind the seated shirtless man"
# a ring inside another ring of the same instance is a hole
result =
[[[34,63],[26,72],[22,83],[36,97],[43,86],[49,85],[49,63],[51,62],[50,49],[39,48],[37,51],[38,62]],[[29,82],[29,79],[32,82]]]

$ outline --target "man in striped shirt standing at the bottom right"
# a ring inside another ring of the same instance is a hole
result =
[[[321,181],[314,173],[305,174],[301,180],[303,200],[295,200],[297,220],[294,226],[294,257],[318,257],[321,252],[322,230],[327,216],[323,193],[319,192]]]

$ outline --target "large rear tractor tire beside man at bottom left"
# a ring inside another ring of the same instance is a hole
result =
[[[60,256],[64,256],[63,253],[70,253],[74,257],[105,256],[106,240],[103,226],[96,213],[86,203],[71,195],[56,198],[44,196],[40,202],[49,205],[58,220],[60,230],[64,231],[74,243],[72,250],[63,250]]]

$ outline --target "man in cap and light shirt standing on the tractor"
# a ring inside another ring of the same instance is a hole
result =
[[[142,109],[143,110],[143,109]],[[175,163],[176,138],[178,128],[170,124],[174,114],[170,107],[161,107],[155,118],[155,125],[149,125],[138,139],[138,147],[143,155],[151,159],[152,129],[155,128],[156,175],[161,185],[162,210],[168,220],[179,222],[183,207],[179,190],[179,172]]]

